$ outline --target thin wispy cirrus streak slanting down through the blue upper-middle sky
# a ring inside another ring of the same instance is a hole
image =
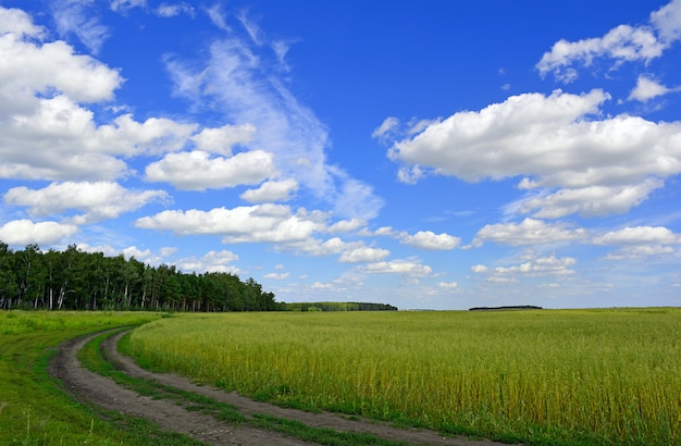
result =
[[[203,60],[168,58],[175,92],[198,107],[219,104],[235,124],[253,125],[249,147],[272,152],[282,176],[295,178],[299,188],[325,200],[338,215],[375,216],[383,200],[372,187],[327,163],[327,129],[280,77],[284,62],[282,51],[272,51],[272,45],[278,48],[276,41],[270,42],[245,13],[237,17],[242,34],[220,9],[209,13],[227,37],[213,40]]]

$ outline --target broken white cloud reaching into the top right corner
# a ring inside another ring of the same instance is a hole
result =
[[[542,76],[553,73],[556,78],[569,83],[577,77],[571,65],[590,66],[597,58],[611,59],[616,66],[635,61],[647,64],[660,57],[680,36],[681,1],[673,0],[653,12],[648,25],[619,25],[603,37],[578,41],[561,39],[544,53],[536,69]]]

